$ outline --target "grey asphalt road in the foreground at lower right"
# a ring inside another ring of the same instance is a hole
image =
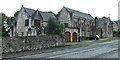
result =
[[[118,58],[118,40],[18,58]]]

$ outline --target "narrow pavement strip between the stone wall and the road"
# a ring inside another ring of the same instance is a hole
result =
[[[74,49],[78,47],[86,47],[91,44],[101,43],[101,42],[107,42],[112,41],[120,38],[113,38],[108,40],[97,40],[94,42],[78,42],[79,44],[72,45],[72,46],[61,46],[61,47],[55,47],[55,48],[49,48],[49,49],[43,49],[43,50],[35,50],[35,51],[25,51],[25,52],[19,52],[19,53],[8,53],[8,54],[2,54],[2,58],[17,58],[22,56],[28,56],[28,55],[36,55],[36,54],[42,54],[42,53],[48,53],[48,52],[55,52],[55,51],[61,51],[61,50],[68,50],[68,49]]]

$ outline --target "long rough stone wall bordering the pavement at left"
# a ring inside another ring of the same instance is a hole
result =
[[[3,53],[38,50],[57,46],[65,46],[65,39],[58,35],[2,38]]]

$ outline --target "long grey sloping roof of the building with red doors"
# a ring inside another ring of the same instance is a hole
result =
[[[63,7],[63,8],[66,8],[66,7]],[[76,16],[87,18],[87,19],[90,19],[90,20],[94,20],[94,18],[90,14],[79,12],[77,10],[73,10],[73,9],[70,9],[70,8],[66,8],[66,10],[69,13],[74,13]]]

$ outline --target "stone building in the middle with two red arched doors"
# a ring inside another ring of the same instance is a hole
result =
[[[95,34],[95,20],[90,14],[63,7],[57,18],[65,25],[67,42],[77,42]]]

